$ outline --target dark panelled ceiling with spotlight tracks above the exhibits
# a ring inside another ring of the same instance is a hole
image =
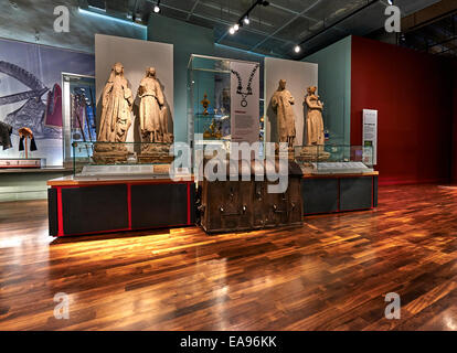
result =
[[[78,0],[106,7],[111,15],[147,23],[156,0]],[[365,35],[384,25],[387,1],[369,0],[270,0],[257,6],[251,24],[234,35],[228,29],[254,0],[161,0],[161,14],[214,29],[215,42],[223,45],[285,57],[304,57],[349,34]],[[439,0],[396,0],[402,15],[408,15]],[[302,52],[293,49],[304,42]]]

